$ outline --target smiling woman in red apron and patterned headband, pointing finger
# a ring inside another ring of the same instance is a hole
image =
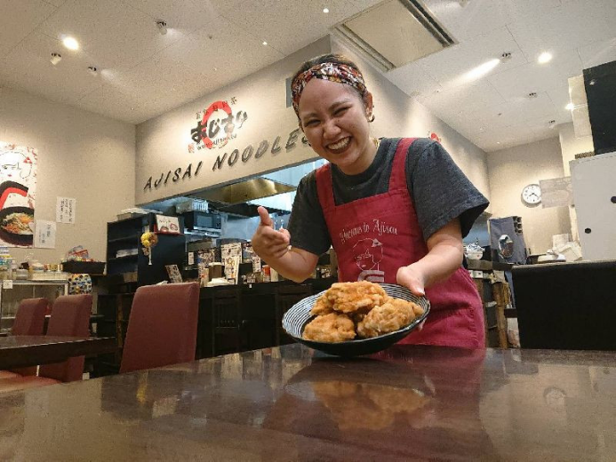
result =
[[[483,307],[461,267],[461,239],[485,197],[436,141],[372,138],[372,93],[340,55],[304,63],[292,78],[292,105],[310,146],[330,163],[301,180],[288,230],[276,230],[260,207],[253,249],[300,282],[332,246],[340,281],[398,283],[428,297],[425,328],[404,343],[483,347]]]

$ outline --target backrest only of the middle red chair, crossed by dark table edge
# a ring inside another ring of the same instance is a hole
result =
[[[53,302],[52,316],[47,335],[60,337],[88,337],[92,295],[62,295]],[[84,374],[84,356],[67,361],[46,364],[39,368],[41,377],[55,378],[60,382],[81,380]]]

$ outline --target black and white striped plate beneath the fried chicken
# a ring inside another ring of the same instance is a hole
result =
[[[304,326],[314,318],[314,316],[310,315],[310,310],[314,306],[316,299],[324,293],[323,291],[317,293],[316,295],[311,295],[306,299],[302,299],[289,308],[283,317],[283,329],[295,341],[306,346],[310,346],[316,350],[323,351],[324,353],[334,354],[336,356],[359,356],[362,354],[377,353],[384,350],[388,346],[394,345],[397,341],[404,339],[404,337],[410,334],[418,324],[426,319],[426,316],[430,311],[430,302],[424,297],[420,298],[413,295],[411,291],[401,285],[382,283],[380,286],[385,289],[390,297],[396,297],[396,299],[404,299],[417,303],[425,310],[424,314],[419,318],[416,318],[412,323],[403,329],[390,332],[379,337],[374,337],[372,339],[355,339],[339,343],[316,342],[313,340],[302,339],[301,334],[304,331]]]

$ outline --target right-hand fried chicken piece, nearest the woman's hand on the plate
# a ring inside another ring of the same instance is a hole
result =
[[[413,305],[412,302],[389,297],[380,307],[372,308],[357,324],[357,335],[370,338],[402,329],[415,319]]]

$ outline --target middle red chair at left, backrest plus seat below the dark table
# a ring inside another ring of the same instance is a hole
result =
[[[52,316],[47,327],[48,336],[88,337],[92,295],[64,295],[53,302]],[[81,380],[84,373],[84,356],[67,361],[46,364],[39,368],[38,377],[0,379],[0,393],[34,386]]]

